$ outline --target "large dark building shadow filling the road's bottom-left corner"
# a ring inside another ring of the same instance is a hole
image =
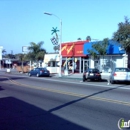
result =
[[[0,98],[0,130],[91,130],[14,97]]]

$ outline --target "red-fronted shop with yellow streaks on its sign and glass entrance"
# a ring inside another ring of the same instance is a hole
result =
[[[82,73],[89,66],[88,55],[83,54],[83,46],[88,41],[62,43],[62,70],[72,73]]]

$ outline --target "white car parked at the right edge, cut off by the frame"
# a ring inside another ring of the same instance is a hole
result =
[[[130,81],[130,69],[129,68],[115,68],[110,75],[110,83],[118,81]]]

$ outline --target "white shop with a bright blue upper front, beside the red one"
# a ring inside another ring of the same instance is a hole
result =
[[[94,44],[94,42],[84,44],[83,53],[85,55],[89,55],[87,51],[88,49],[93,49],[92,44]],[[118,42],[110,40],[106,52],[107,55],[98,55],[97,59],[94,59],[92,56],[89,55],[90,67],[98,68],[102,72],[109,72],[115,67],[127,67],[127,55],[125,54],[125,50]]]

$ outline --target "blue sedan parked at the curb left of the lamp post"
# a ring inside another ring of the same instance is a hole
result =
[[[40,76],[48,76],[49,77],[50,72],[46,68],[34,68],[30,72],[28,72],[28,75],[29,76],[34,75],[34,76],[37,76],[37,77],[40,77]]]

